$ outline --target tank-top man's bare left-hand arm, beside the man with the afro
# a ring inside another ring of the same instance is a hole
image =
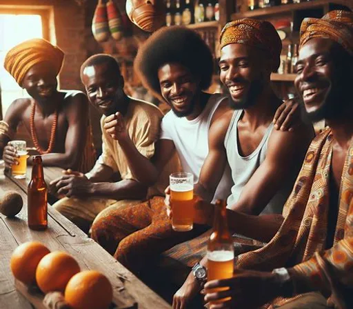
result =
[[[212,200],[227,163],[224,139],[232,114],[232,110],[226,112],[219,119],[216,119],[210,128],[208,156],[201,168],[199,182],[194,188],[195,192],[206,201]]]

